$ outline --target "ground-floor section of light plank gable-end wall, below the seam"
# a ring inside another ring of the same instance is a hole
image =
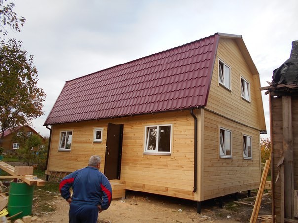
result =
[[[258,188],[261,180],[259,131],[209,111],[205,111],[204,120],[204,200]],[[232,131],[232,159],[219,157],[219,127]],[[243,134],[252,137],[252,160],[243,158]]]

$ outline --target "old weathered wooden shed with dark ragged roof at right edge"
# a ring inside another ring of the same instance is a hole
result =
[[[298,223],[298,41],[274,71],[270,93],[273,222]]]

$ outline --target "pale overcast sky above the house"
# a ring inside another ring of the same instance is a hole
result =
[[[33,121],[44,136],[45,119],[67,80],[223,32],[242,35],[264,87],[298,40],[298,0],[12,2],[26,22],[10,35],[34,55],[38,87],[47,94],[45,114]],[[262,96],[269,133],[269,101]]]

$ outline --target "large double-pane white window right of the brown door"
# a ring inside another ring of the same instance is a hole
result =
[[[146,153],[171,153],[172,125],[147,126],[145,131]]]

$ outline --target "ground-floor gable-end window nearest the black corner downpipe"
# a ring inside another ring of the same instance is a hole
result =
[[[221,133],[223,132],[223,134]],[[223,136],[222,136],[223,135]],[[229,136],[229,140],[228,140]],[[221,158],[232,158],[232,131],[222,128],[219,128],[219,154]],[[229,148],[227,148],[229,146]],[[230,149],[230,154],[227,154],[227,149]]]

